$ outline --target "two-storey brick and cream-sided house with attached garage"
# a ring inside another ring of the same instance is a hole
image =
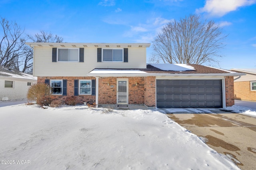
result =
[[[234,105],[233,76],[196,64],[146,64],[150,43],[26,43],[34,48],[34,76],[52,98],[80,103],[155,107]]]

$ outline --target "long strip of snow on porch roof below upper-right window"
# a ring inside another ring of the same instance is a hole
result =
[[[89,74],[148,74],[141,70],[94,69]]]

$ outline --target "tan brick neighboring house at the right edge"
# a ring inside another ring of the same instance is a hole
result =
[[[231,70],[246,74],[234,79],[235,99],[256,101],[256,68],[233,68]]]

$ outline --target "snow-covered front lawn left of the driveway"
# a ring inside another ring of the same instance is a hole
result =
[[[5,170],[239,169],[158,111],[87,106],[0,107],[0,160]]]

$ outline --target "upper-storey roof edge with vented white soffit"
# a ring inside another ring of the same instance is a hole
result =
[[[25,43],[30,47],[150,47],[150,43]]]

